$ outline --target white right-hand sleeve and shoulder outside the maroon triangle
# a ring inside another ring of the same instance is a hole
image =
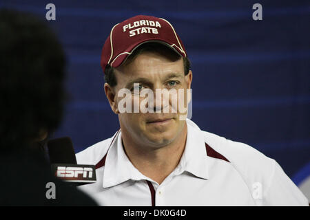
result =
[[[255,148],[202,131],[205,143],[223,155],[249,188],[258,204],[307,206],[308,200],[285,174],[276,160]]]

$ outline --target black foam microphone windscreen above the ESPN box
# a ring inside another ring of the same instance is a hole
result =
[[[60,137],[48,141],[51,164],[76,164],[74,148],[70,137]]]

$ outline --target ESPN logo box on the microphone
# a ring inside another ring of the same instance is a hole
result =
[[[59,179],[76,184],[91,184],[96,182],[94,165],[52,164],[52,171]]]

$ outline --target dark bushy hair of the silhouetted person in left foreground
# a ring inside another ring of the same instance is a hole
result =
[[[65,55],[48,25],[0,10],[0,147],[25,146],[63,116]]]

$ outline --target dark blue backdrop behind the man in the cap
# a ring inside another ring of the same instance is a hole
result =
[[[70,94],[54,137],[76,152],[112,136],[118,118],[103,91],[101,48],[114,24],[137,14],[163,17],[182,39],[194,74],[192,120],[276,159],[299,184],[310,173],[310,1],[44,1],[0,6],[48,21],[68,56]],[[262,5],[262,21],[252,5]]]

